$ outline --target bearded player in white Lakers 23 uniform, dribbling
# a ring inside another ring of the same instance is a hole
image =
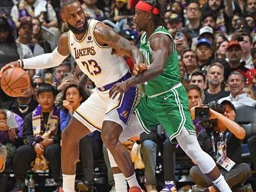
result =
[[[56,67],[72,54],[80,69],[94,81],[97,88],[89,99],[74,111],[69,125],[61,135],[63,172],[61,190],[74,191],[80,139],[92,131],[100,130],[104,144],[120,168],[113,169],[113,173],[122,171],[130,186],[129,191],[142,191],[134,174],[131,157],[119,141],[120,134],[129,122],[136,105],[138,90],[136,87],[131,87],[120,100],[112,100],[109,98],[109,89],[114,84],[131,77],[125,60],[112,54],[112,48],[131,57],[134,63],[143,63],[143,56],[138,48],[116,34],[112,28],[96,20],[87,22],[78,0],[63,0],[61,17],[67,22],[70,30],[67,34],[61,35],[58,47],[50,54],[7,64],[1,69],[0,78],[1,74],[10,67],[24,69]],[[112,159],[112,164],[114,160]],[[123,186],[125,187],[126,184]],[[127,189],[123,189],[125,190]],[[122,192],[122,189],[119,192]]]

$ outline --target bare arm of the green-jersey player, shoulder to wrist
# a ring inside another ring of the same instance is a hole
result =
[[[129,78],[129,87],[152,80],[164,72],[167,56],[173,53],[171,38],[164,34],[155,34],[151,37],[150,46],[153,49],[151,65],[138,76]]]

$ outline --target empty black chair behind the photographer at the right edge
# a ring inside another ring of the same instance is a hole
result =
[[[244,127],[246,131],[244,144],[247,144],[248,138],[256,135],[256,108],[250,106],[239,106],[235,109],[235,111],[235,122]],[[242,160],[244,162],[251,162],[250,153],[242,153]]]

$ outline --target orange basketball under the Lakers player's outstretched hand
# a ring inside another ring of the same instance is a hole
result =
[[[25,70],[12,67],[3,72],[1,87],[8,96],[23,96],[30,87],[30,78]]]

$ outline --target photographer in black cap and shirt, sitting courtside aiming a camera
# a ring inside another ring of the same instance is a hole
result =
[[[191,109],[191,114],[192,118],[199,116],[202,118],[201,122],[208,122],[210,125],[197,136],[200,146],[217,162],[229,187],[242,191],[241,187],[250,175],[250,167],[241,163],[241,144],[246,133],[234,122],[235,107],[228,100],[222,101],[220,105],[209,103],[208,106],[202,106],[198,102],[198,105]],[[211,123],[212,120],[216,123]],[[202,174],[197,165],[191,168],[190,177],[197,184],[192,191],[217,191],[217,187]]]

